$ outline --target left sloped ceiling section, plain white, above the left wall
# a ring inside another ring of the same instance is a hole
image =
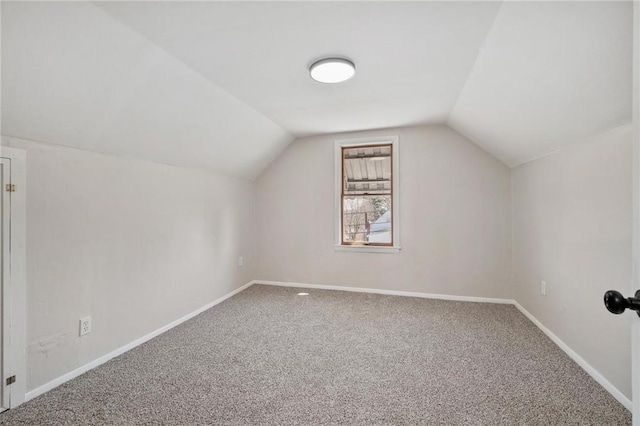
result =
[[[84,2],[3,2],[3,134],[257,176],[292,135]]]

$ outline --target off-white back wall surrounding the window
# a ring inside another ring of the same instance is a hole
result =
[[[334,140],[400,138],[399,254],[334,251]],[[446,126],[296,140],[257,180],[255,278],[512,298],[507,166]]]

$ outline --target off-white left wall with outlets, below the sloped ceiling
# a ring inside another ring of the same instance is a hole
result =
[[[28,390],[251,280],[253,182],[3,142],[28,155]]]

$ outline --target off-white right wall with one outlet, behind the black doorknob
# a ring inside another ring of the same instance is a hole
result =
[[[631,126],[512,170],[515,299],[631,397]],[[540,281],[547,282],[547,296]]]

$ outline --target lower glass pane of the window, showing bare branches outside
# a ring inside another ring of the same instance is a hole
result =
[[[345,243],[391,244],[391,195],[342,197]]]

